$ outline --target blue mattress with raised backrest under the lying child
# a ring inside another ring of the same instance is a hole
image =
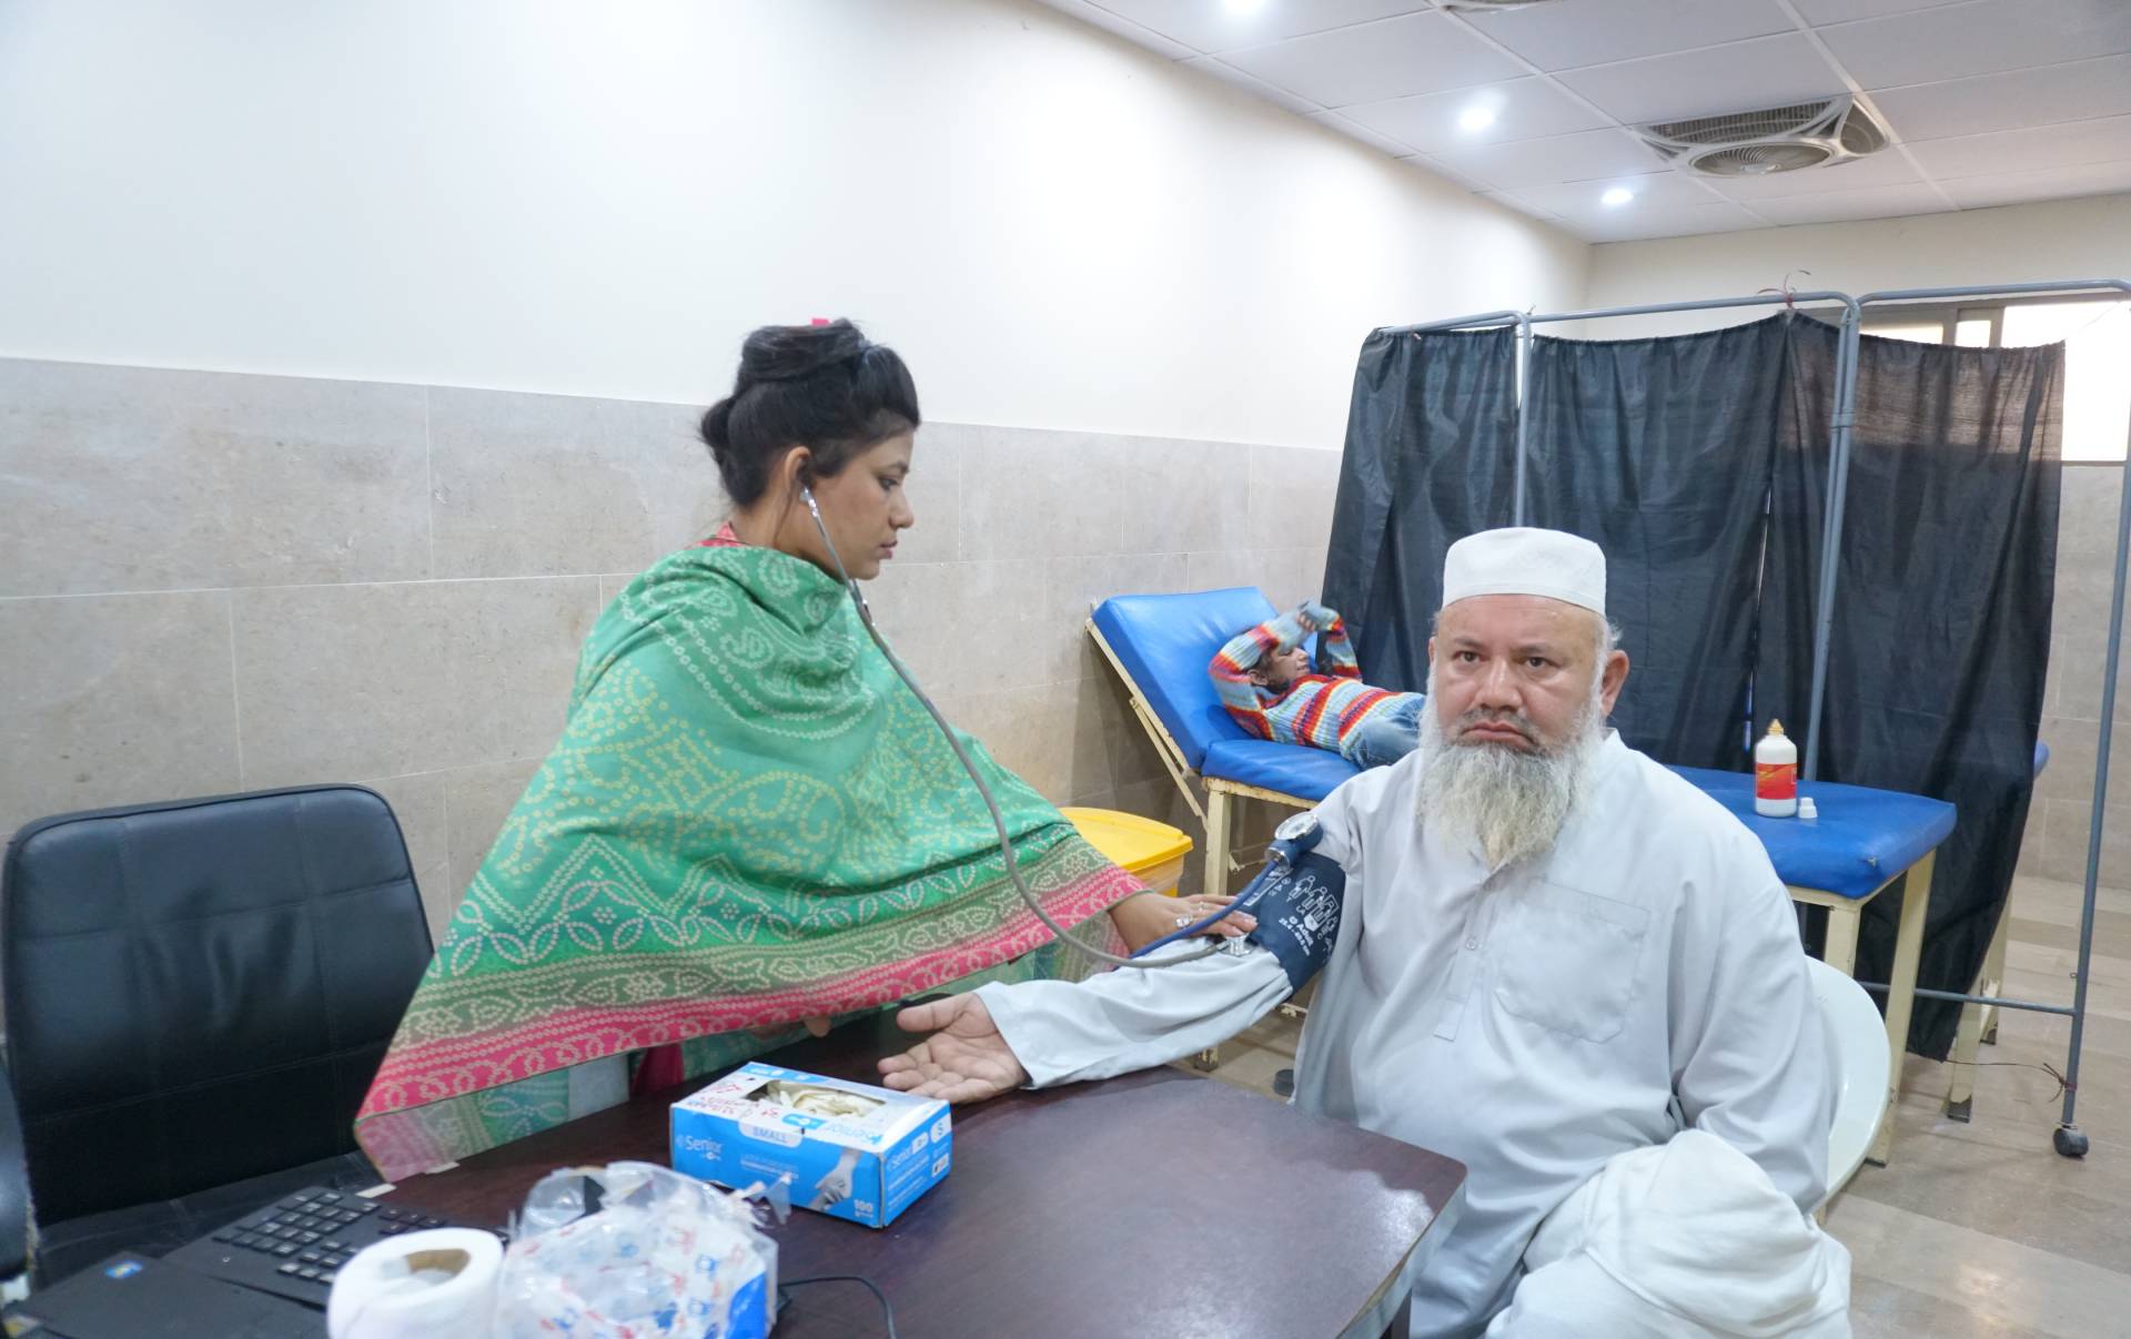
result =
[[[1117,651],[1195,773],[1321,800],[1360,768],[1338,754],[1245,732],[1206,677],[1215,651],[1230,637],[1274,613],[1272,600],[1249,585],[1112,596],[1095,607],[1095,630]]]

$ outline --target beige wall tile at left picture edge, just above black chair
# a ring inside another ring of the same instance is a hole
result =
[[[241,790],[228,592],[0,600],[0,830]]]

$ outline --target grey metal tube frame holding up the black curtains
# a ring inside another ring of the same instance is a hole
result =
[[[1455,317],[1449,321],[1421,321],[1417,326],[1394,326],[1385,334],[1419,334],[1424,330],[1479,330],[1490,326],[1513,326],[1517,332],[1517,445],[1515,445],[1515,524],[1524,524],[1524,470],[1526,456],[1530,449],[1528,419],[1524,413],[1524,394],[1528,385],[1530,351],[1532,351],[1532,326],[1543,326],[1551,321],[1596,321],[1607,317],[1634,317],[1634,315],[1671,315],[1688,311],[1722,311],[1730,307],[1771,307],[1782,302],[1794,307],[1796,302],[1831,302],[1843,309],[1837,328],[1837,351],[1835,351],[1835,404],[1828,415],[1828,515],[1826,532],[1820,536],[1820,581],[1813,596],[1813,688],[1811,700],[1807,705],[1807,734],[1805,734],[1805,779],[1816,779],[1820,775],[1820,717],[1826,705],[1826,681],[1828,681],[1828,632],[1835,619],[1835,596],[1837,579],[1841,568],[1841,539],[1843,539],[1843,505],[1850,494],[1850,434],[1856,424],[1856,379],[1858,379],[1858,334],[1862,326],[1862,313],[1867,304],[1873,302],[1952,302],[1963,298],[2014,298],[2014,296],[2046,296],[2046,294],[2103,294],[2116,292],[2131,296],[2131,279],[2063,279],[2052,283],[1997,283],[1997,285],[1975,285],[1975,287],[1916,287],[1916,290],[1888,290],[1871,292],[1862,298],[1852,298],[1839,292],[1809,292],[1809,294],[1754,294],[1745,298],[1705,298],[1698,302],[1652,302],[1643,307],[1600,307],[1592,311],[1562,311],[1547,315],[1532,315],[1524,311],[1487,311],[1468,317]],[[2108,668],[2101,681],[2101,730],[2097,741],[2095,760],[2095,798],[2093,811],[2088,815],[2088,839],[2086,839],[2086,890],[2080,907],[2080,964],[2073,977],[2071,1007],[2065,1005],[2041,1005],[2033,1001],[2014,1001],[1986,994],[1961,994],[1952,990],[1918,990],[1922,998],[1937,1001],[1958,1001],[1967,1009],[2027,1009],[2033,1013],[2059,1013],[2071,1018],[2071,1041],[2065,1060],[2065,1107],[2063,1118],[2052,1135],[2052,1143],[2059,1154],[2067,1158],[2084,1158],[2088,1150],[2086,1133],[2080,1130],[2073,1120],[2076,1103],[2080,1096],[2080,1043],[2086,1030],[2086,977],[2093,960],[2095,945],[2095,890],[2101,881],[2101,820],[2103,803],[2108,798],[2110,786],[2110,737],[2116,722],[2116,668],[2120,660],[2122,641],[2122,619],[2125,619],[2125,568],[2127,558],[2131,558],[2131,445],[2127,445],[2125,462],[2125,487],[2116,507],[2116,583],[2110,592],[2110,649]],[[2001,920],[2005,911],[1999,913]],[[1886,983],[1860,981],[1867,990],[1884,992]]]

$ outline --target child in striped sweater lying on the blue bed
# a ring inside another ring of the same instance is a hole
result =
[[[1302,641],[1317,632],[1317,664]],[[1417,692],[1362,683],[1338,613],[1304,600],[1294,613],[1238,632],[1206,666],[1221,705],[1272,743],[1332,749],[1355,766],[1389,766],[1421,739]]]

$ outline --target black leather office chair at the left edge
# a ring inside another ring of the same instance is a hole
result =
[[[0,998],[28,1194],[0,1158],[0,1213],[32,1205],[36,1282],[375,1184],[356,1107],[428,958],[398,820],[360,786],[17,832]]]

